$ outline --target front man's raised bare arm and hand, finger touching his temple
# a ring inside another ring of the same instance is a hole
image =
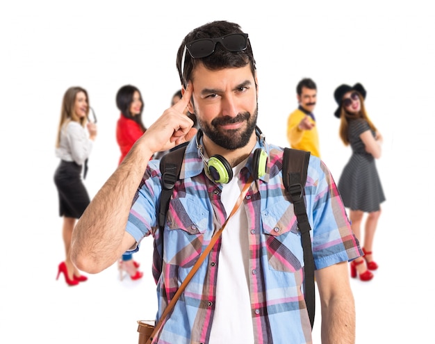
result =
[[[125,228],[149,158],[156,151],[189,141],[197,131],[192,129],[192,120],[183,115],[192,94],[190,88],[181,101],[165,110],[136,141],[77,222],[72,234],[71,257],[80,270],[100,272],[136,245]]]

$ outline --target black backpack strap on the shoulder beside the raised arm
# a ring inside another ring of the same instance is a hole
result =
[[[172,189],[174,188],[175,182],[180,177],[181,164],[183,163],[183,156],[187,145],[188,142],[172,148],[161,158],[160,161],[160,170],[162,173],[162,193],[160,196],[158,226],[160,227],[161,231],[163,231],[163,228],[165,227],[167,207],[169,206],[169,200],[172,196]]]

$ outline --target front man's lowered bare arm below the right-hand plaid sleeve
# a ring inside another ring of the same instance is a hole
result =
[[[355,303],[347,261],[315,270],[321,306],[322,344],[355,343]]]

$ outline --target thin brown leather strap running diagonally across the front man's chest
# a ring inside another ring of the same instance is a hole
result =
[[[175,303],[179,299],[181,293],[183,293],[184,289],[186,289],[186,286],[190,282],[190,279],[192,279],[193,275],[195,275],[195,272],[197,272],[199,266],[202,264],[204,259],[206,259],[206,256],[210,253],[210,251],[213,248],[213,246],[215,245],[217,239],[222,234],[222,231],[224,231],[224,228],[227,225],[229,219],[231,218],[231,216],[233,216],[237,212],[238,208],[243,203],[243,199],[245,198],[245,195],[247,194],[247,191],[249,190],[249,186],[251,186],[252,181],[254,181],[254,179],[252,179],[252,177],[249,177],[245,186],[243,186],[242,192],[240,193],[240,195],[236,201],[236,204],[234,204],[233,210],[229,214],[227,220],[225,220],[224,224],[222,224],[222,227],[220,227],[219,231],[217,231],[217,232],[215,232],[215,234],[213,234],[213,236],[211,237],[210,243],[208,243],[206,249],[204,249],[204,252],[202,252],[201,256],[199,256],[197,262],[195,263],[195,265],[193,265],[192,270],[190,270],[190,272],[188,273],[188,275],[184,279],[183,283],[181,284],[180,288],[178,288],[174,297],[172,297],[171,302],[167,305],[165,311],[163,311],[161,318],[158,320],[158,323],[156,324],[156,327],[154,328],[153,333],[151,334],[151,336],[149,336],[147,344],[152,342],[154,335],[157,333],[158,329],[160,329],[160,327],[163,323],[163,320],[165,320],[166,316],[170,313],[170,311],[172,311],[172,309],[174,308]]]

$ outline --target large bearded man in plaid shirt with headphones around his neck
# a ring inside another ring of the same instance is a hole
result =
[[[182,99],[149,126],[92,199],[74,230],[74,263],[100,272],[153,236],[156,321],[163,319],[153,343],[312,343],[302,243],[282,185],[284,149],[265,142],[256,127],[258,80],[248,35],[227,21],[199,26],[181,43],[177,69]],[[183,115],[186,106],[198,131]],[[148,160],[183,142],[189,143],[162,233],[160,161]],[[347,261],[362,252],[327,167],[311,156],[307,174],[322,341],[354,343]]]

